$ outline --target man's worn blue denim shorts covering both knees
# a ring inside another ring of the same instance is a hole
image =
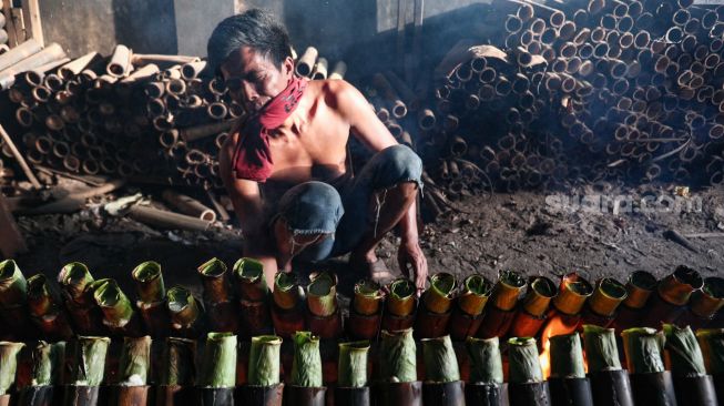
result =
[[[346,182],[305,182],[289,189],[279,200],[273,220],[286,220],[294,235],[325,234],[298,258],[315,262],[343,255],[359,244],[366,231],[376,230],[376,212],[384,204],[386,191],[402,182],[415,182],[421,190],[421,176],[420,158],[406,145],[392,145],[373,155]],[[380,193],[370,207],[376,192]]]

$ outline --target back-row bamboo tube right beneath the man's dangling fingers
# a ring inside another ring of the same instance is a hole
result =
[[[412,281],[401,277],[388,286],[383,329],[400,331],[412,327],[417,308],[417,288]]]

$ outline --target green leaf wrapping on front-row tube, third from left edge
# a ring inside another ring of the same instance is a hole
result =
[[[73,343],[71,382],[77,386],[100,386],[105,371],[109,337],[79,336]]]

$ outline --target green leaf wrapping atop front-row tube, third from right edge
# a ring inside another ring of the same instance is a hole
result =
[[[630,374],[664,372],[664,335],[653,328],[629,328],[621,333]]]

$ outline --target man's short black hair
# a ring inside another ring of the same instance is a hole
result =
[[[228,57],[244,45],[262,52],[276,65],[282,65],[287,57],[292,57],[286,28],[271,12],[251,9],[224,19],[212,32],[206,52],[213,72],[218,73]]]

